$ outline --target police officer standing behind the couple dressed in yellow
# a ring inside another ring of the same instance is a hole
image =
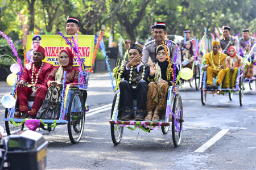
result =
[[[237,42],[237,39],[235,37],[230,36],[230,27],[228,25],[224,25],[222,27],[223,30],[223,38],[220,39],[220,46],[222,49],[222,53],[228,54],[228,49],[230,46],[234,45],[237,47],[237,49],[240,48],[239,43]]]

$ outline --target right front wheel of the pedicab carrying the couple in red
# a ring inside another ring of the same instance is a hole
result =
[[[68,105],[68,135],[73,144],[80,141],[84,131],[85,105],[80,92],[75,92]]]

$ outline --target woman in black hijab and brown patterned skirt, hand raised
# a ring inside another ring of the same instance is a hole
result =
[[[168,88],[173,84],[170,63],[167,60],[167,55],[170,56],[169,48],[167,48],[167,52],[168,54],[163,45],[159,45],[155,49],[156,58],[150,67],[150,75],[148,75],[148,81],[151,83],[148,84],[145,121],[159,121],[159,111],[166,109]],[[173,67],[174,65],[172,65],[172,70]],[[176,75],[177,71],[178,69],[176,69]]]

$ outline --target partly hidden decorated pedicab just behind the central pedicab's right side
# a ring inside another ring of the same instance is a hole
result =
[[[186,39],[186,34],[184,34],[184,37]],[[187,66],[189,64],[189,60],[193,59],[192,62],[192,71],[193,71],[193,76],[191,79],[189,80],[184,80],[184,83],[187,82],[189,83],[190,87],[193,87],[193,82],[195,82],[195,87],[196,87],[196,91],[199,90],[200,88],[200,66],[201,66],[201,60],[199,58],[199,46],[201,44],[201,41],[199,41],[199,39],[196,39],[196,37],[193,37],[193,45],[196,46],[196,51],[194,56],[192,56],[191,58],[187,58],[182,62],[183,67]]]

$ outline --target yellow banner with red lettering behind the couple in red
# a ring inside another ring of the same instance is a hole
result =
[[[36,36],[36,37],[35,37]],[[40,36],[40,37],[39,37]],[[34,38],[35,37],[35,38]],[[69,37],[69,40],[71,40],[71,36]],[[76,40],[76,36],[75,40]],[[94,45],[94,36],[83,36],[80,35],[79,37],[79,55],[82,61],[85,64],[86,69],[92,68],[92,57],[93,57],[93,45]],[[33,39],[34,38],[34,42]],[[72,41],[72,40],[71,40]],[[27,36],[27,45],[26,45],[26,58],[27,63],[32,62],[32,55],[34,52],[34,49],[36,48],[36,45],[42,46],[46,50],[46,58],[44,58],[44,62],[51,63],[53,66],[60,65],[58,62],[58,53],[63,48],[69,48],[71,47],[66,44],[65,40],[59,36],[59,35],[28,35]],[[76,67],[79,67],[79,63],[77,62],[77,54],[73,49],[71,49],[74,54],[74,65]]]

